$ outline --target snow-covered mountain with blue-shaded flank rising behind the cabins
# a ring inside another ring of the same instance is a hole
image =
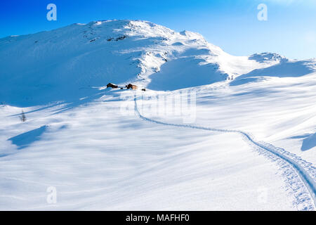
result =
[[[145,21],[73,24],[0,39],[0,101],[24,106],[74,101],[108,82],[183,89],[287,61],[271,53],[231,56],[201,34]]]

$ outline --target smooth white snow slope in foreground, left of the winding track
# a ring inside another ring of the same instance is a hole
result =
[[[119,114],[113,100],[57,115],[37,111],[25,124],[8,117],[18,109],[7,109],[1,146],[11,155],[0,158],[0,209],[302,209],[277,165],[237,134],[145,122]],[[48,128],[34,141],[43,124]],[[4,140],[27,131],[27,148]],[[57,189],[55,205],[46,203],[49,186]]]

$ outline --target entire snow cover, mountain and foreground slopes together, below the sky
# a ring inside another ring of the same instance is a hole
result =
[[[0,39],[0,210],[315,210],[315,97],[315,59],[146,21]]]

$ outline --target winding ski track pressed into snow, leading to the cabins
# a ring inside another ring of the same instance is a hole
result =
[[[137,107],[137,99],[134,98],[135,111],[140,119],[154,122],[156,124],[162,124],[172,127],[185,127],[190,129],[202,129],[208,131],[225,132],[225,133],[237,133],[241,134],[243,139],[251,146],[258,150],[258,153],[269,158],[273,162],[276,162],[282,169],[282,176],[287,183],[289,192],[294,195],[294,205],[297,210],[315,210],[316,208],[316,167],[312,163],[303,160],[294,153],[289,153],[283,148],[273,146],[270,143],[262,141],[255,141],[254,137],[247,134],[244,131],[231,130],[231,129],[216,129],[211,127],[201,127],[189,124],[172,124],[168,122],[160,122],[144,117],[140,114]]]

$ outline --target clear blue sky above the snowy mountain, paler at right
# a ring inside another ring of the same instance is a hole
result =
[[[46,19],[50,3],[57,6],[57,21]],[[268,7],[267,21],[257,18],[262,3]],[[0,37],[112,19],[199,32],[236,56],[270,51],[288,58],[316,57],[316,0],[0,1]]]

